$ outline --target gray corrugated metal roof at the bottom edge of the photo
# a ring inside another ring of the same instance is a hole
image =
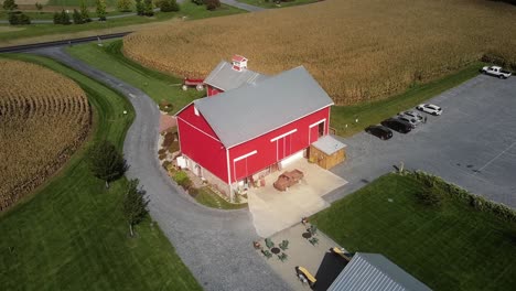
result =
[[[357,252],[327,291],[431,290],[379,254]]]

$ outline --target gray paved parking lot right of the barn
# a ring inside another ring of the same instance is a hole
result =
[[[388,141],[365,132],[342,139],[348,160],[332,172],[350,183],[324,198],[338,200],[404,162],[516,207],[516,77],[479,75],[429,103],[442,116],[428,116],[412,132]]]

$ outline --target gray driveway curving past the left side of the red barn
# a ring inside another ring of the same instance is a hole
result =
[[[152,218],[205,290],[290,290],[254,250],[257,239],[247,209],[218,211],[198,205],[180,191],[158,160],[159,109],[143,91],[69,56],[61,47],[33,51],[52,57],[122,93],[136,110],[123,143],[129,179],[147,191]]]

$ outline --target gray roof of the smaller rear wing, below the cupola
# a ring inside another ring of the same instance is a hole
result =
[[[266,78],[266,75],[247,68],[244,68],[241,72],[235,71],[232,64],[222,61],[204,79],[204,83],[226,91],[243,85],[255,84]]]

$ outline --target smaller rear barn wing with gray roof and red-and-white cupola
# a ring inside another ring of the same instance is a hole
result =
[[[222,61],[204,79],[207,96],[238,88],[243,85],[256,84],[267,76],[247,68],[247,58],[234,55],[232,63]]]

